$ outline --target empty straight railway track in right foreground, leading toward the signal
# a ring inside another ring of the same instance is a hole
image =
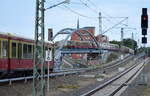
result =
[[[141,72],[145,64],[147,64],[149,61],[149,59],[146,59],[143,62],[141,61],[139,64],[134,64],[121,74],[99,85],[93,90],[82,94],[81,96],[114,96],[124,86],[127,86],[128,82],[130,82],[137,75],[137,73]]]

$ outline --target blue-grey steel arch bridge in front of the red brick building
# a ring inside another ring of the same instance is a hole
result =
[[[82,32],[80,32],[80,30],[82,30]],[[81,41],[90,42],[93,45],[93,48],[69,48],[69,49],[66,49],[65,44],[67,44],[67,41],[69,41],[69,38],[73,34],[77,34]],[[65,39],[59,41],[59,44],[57,44],[58,46],[54,52],[54,60],[55,60],[54,70],[55,71],[60,69],[63,54],[84,54],[84,53],[99,53],[99,54],[101,54],[103,50],[120,51],[120,49],[110,48],[110,46],[107,44],[105,45],[105,47],[102,46],[103,44],[101,42],[98,42],[96,40],[95,36],[93,36],[93,34],[91,34],[85,28],[79,28],[79,29],[65,28],[65,29],[62,29],[57,34],[55,34],[53,36],[53,38],[52,38],[53,43],[59,35],[67,35],[67,36],[65,37]],[[91,37],[91,39],[89,40],[89,39],[83,38],[84,36]]]

